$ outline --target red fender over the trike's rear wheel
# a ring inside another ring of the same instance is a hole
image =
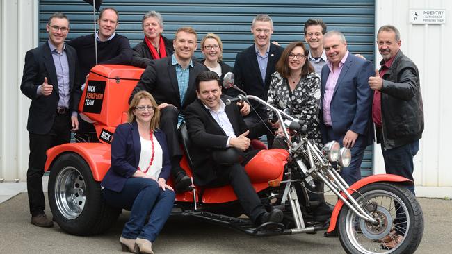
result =
[[[101,181],[111,166],[111,146],[102,143],[67,143],[54,146],[47,150],[47,160],[45,171],[49,171],[51,164],[62,153],[76,153],[88,163],[92,177],[96,181]]]

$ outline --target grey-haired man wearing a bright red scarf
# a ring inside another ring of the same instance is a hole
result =
[[[132,65],[146,68],[152,59],[166,58],[174,52],[172,41],[163,37],[163,18],[154,10],[147,12],[141,21],[145,39],[134,47]]]

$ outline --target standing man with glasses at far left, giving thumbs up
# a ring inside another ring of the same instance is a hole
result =
[[[31,99],[27,130],[30,138],[29,169],[26,184],[31,223],[51,227],[42,192],[42,175],[47,149],[70,142],[70,132],[79,128],[77,108],[81,84],[74,48],[64,43],[69,32],[66,15],[56,12],[46,25],[49,40],[26,52],[20,90]]]

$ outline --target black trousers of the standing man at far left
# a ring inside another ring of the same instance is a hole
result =
[[[56,113],[54,125],[49,133],[45,135],[29,133],[30,156],[29,169],[26,171],[26,189],[29,194],[30,213],[33,217],[43,214],[45,210],[45,198],[42,192],[42,176],[47,160],[45,153],[53,146],[69,143],[71,128],[70,112]]]

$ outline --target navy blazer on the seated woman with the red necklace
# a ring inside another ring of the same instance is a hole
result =
[[[154,136],[163,151],[162,169],[159,178],[168,180],[171,163],[166,136],[161,130],[155,130]],[[111,142],[111,167],[108,169],[101,185],[114,192],[121,192],[127,178],[131,178],[138,169],[140,153],[140,133],[138,133],[136,121],[120,124],[116,128],[113,141]]]

